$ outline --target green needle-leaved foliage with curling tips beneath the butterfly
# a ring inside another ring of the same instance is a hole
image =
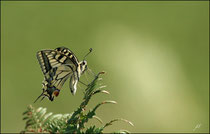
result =
[[[112,125],[115,121],[124,121],[133,126],[133,124],[125,119],[114,119],[101,127],[92,125],[86,127],[85,124],[89,119],[95,118],[102,123],[102,120],[96,116],[96,110],[103,104],[116,104],[115,101],[103,101],[98,103],[93,109],[87,111],[86,107],[93,95],[98,93],[109,94],[108,91],[103,90],[105,86],[98,86],[97,82],[102,78],[99,75],[104,72],[98,73],[94,80],[88,84],[84,98],[80,106],[72,114],[53,114],[47,113],[46,108],[39,107],[35,109],[31,105],[23,113],[23,120],[26,120],[25,129],[21,133],[103,133],[103,130]],[[114,133],[129,133],[127,130],[119,130]]]

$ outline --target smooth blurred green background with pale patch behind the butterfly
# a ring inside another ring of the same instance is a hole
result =
[[[22,112],[41,94],[41,49],[65,46],[106,71],[110,95],[97,114],[125,118],[105,132],[209,132],[209,2],[1,2],[2,132],[24,129]],[[88,75],[90,81],[93,77]],[[87,83],[85,76],[82,76]],[[71,113],[80,104],[68,82],[59,97],[33,104]],[[100,124],[92,120],[91,123]],[[200,126],[200,127],[198,127]]]

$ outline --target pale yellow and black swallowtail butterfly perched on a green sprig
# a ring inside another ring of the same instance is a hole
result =
[[[92,48],[89,49],[90,52],[92,52]],[[41,100],[47,97],[53,101],[54,97],[59,95],[62,86],[68,78],[70,78],[70,91],[75,95],[79,78],[87,70],[85,58],[89,53],[79,62],[74,53],[66,47],[38,51],[37,59],[44,74],[44,80],[42,82],[43,92],[34,103],[40,97],[42,97]]]

